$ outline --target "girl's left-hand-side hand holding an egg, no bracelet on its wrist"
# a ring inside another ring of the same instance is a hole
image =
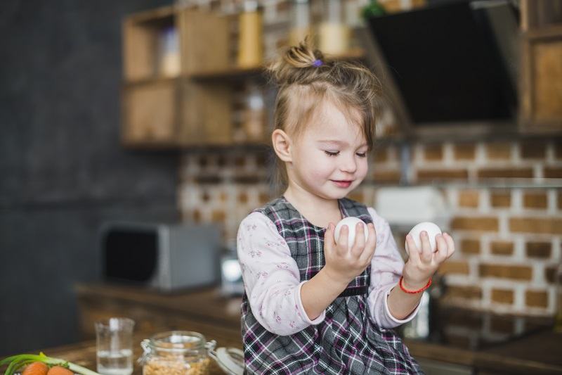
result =
[[[365,242],[363,224],[358,223],[355,227],[355,243],[348,248],[349,229],[347,225],[341,227],[339,241],[334,239],[336,226],[329,223],[324,235],[324,256],[326,258],[325,271],[336,281],[349,284],[351,280],[358,277],[371,263],[374,248],[377,245],[377,234],[372,223],[367,224],[369,238]]]

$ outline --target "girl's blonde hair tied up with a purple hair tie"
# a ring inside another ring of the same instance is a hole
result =
[[[281,129],[297,136],[320,108],[329,100],[351,122],[362,129],[369,150],[374,142],[376,103],[381,97],[381,82],[371,70],[353,61],[326,61],[308,37],[292,46],[268,66],[270,77],[277,83],[273,130]],[[274,184],[287,184],[287,171],[279,158]],[[282,186],[276,186],[276,190]]]

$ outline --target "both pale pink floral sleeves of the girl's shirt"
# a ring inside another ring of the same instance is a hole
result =
[[[377,233],[367,299],[369,314],[374,324],[388,329],[413,319],[419,305],[403,320],[396,319],[388,310],[388,293],[398,283],[404,261],[388,222],[373,208],[367,210]],[[292,335],[325,319],[325,312],[312,320],[304,311],[301,286],[306,281],[301,281],[289,246],[266,215],[252,212],[242,220],[237,253],[251,311],[268,331],[280,336]]]

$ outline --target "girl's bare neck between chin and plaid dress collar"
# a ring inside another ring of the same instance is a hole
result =
[[[292,186],[287,188],[283,196],[308,222],[317,227],[325,228],[330,222],[337,224],[341,220],[337,199],[325,199]]]

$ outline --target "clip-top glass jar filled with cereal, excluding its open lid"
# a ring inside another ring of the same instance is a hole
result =
[[[209,350],[215,342],[207,343],[201,333],[168,331],[158,333],[141,343],[144,354],[139,359],[143,375],[207,375],[211,374]]]

